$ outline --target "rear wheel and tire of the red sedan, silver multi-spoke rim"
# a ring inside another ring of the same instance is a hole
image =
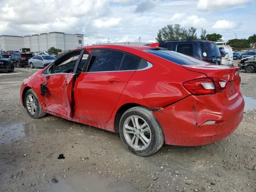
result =
[[[152,111],[143,106],[124,112],[119,132],[124,146],[138,156],[154,154],[164,144],[164,133],[158,120]]]

